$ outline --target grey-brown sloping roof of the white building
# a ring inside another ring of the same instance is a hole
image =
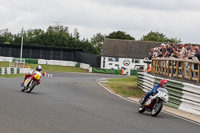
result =
[[[149,56],[151,48],[160,45],[161,42],[105,38],[102,56],[144,59]]]

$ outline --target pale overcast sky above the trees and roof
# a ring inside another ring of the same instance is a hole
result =
[[[56,22],[81,38],[121,30],[138,40],[158,31],[200,44],[200,0],[0,0],[0,29],[46,31]]]

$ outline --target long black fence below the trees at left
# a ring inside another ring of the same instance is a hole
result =
[[[20,57],[21,45],[0,44],[0,56]],[[56,48],[44,46],[23,46],[23,57],[31,59],[63,60],[90,64],[100,67],[101,58],[95,54],[85,53],[78,48]]]

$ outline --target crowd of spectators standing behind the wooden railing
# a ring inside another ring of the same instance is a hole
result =
[[[191,59],[194,61],[200,61],[199,46],[194,44],[164,44],[160,47],[154,47],[149,53],[151,58],[179,58],[179,59]]]

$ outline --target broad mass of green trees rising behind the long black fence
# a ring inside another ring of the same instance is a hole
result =
[[[21,33],[12,35],[8,29],[0,31],[1,43],[21,44]],[[81,48],[86,53],[100,55],[99,47],[92,44],[88,39],[80,39],[80,33],[74,29],[69,33],[68,27],[56,25],[49,26],[47,31],[41,29],[29,29],[23,31],[24,45],[50,46],[61,48]]]

